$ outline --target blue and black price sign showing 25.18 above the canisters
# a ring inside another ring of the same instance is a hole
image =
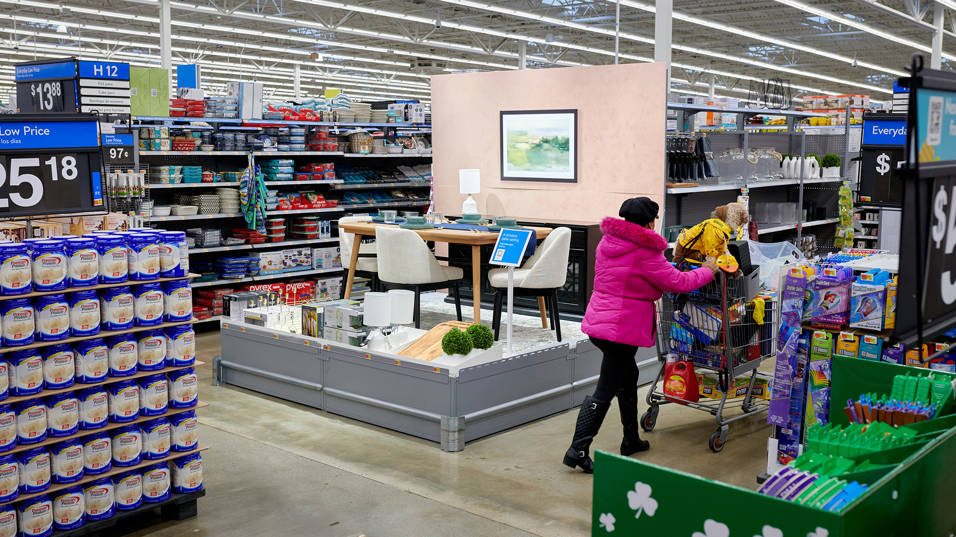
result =
[[[0,116],[0,218],[102,210],[96,115]]]

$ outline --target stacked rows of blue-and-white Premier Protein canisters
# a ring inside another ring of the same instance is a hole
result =
[[[182,231],[0,244],[0,535],[49,536],[202,488],[198,452],[166,460],[198,446],[195,333],[167,324],[192,318],[188,273]]]

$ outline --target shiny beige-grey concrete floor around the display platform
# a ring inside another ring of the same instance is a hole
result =
[[[202,325],[200,325],[202,327]],[[211,328],[211,327],[209,327]],[[435,442],[233,386],[211,385],[219,333],[198,336],[198,414],[207,496],[183,522],[141,520],[132,535],[319,537],[591,533],[592,477],[561,464],[577,410],[539,419],[445,453]],[[645,393],[646,387],[641,390]],[[641,404],[641,411],[645,410]],[[719,454],[712,417],[667,405],[645,433],[641,460],[756,488],[770,427],[761,414],[731,425]],[[593,449],[617,451],[612,405]],[[104,533],[105,535],[105,533]]]

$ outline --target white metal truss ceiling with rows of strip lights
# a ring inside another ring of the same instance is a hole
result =
[[[817,93],[881,100],[892,80],[905,75],[911,54],[928,54],[932,6],[932,0],[674,0],[673,91],[706,95],[706,75],[714,75],[721,95],[746,98],[749,81],[782,77],[791,80],[796,101]],[[610,0],[174,0],[170,7],[176,63],[202,64],[210,87],[239,75],[291,86],[297,65],[306,92],[339,85],[353,95],[429,100],[430,75],[517,69],[519,41],[529,44],[530,66],[613,63],[618,6]],[[651,61],[653,0],[620,0],[619,9],[620,61]],[[956,38],[951,14],[945,12],[945,50]],[[83,54],[158,66],[159,32],[158,0],[0,0],[0,57],[8,66],[30,59],[34,43],[38,57]],[[956,54],[943,58],[950,69]],[[0,89],[10,88],[10,71],[0,69]],[[277,87],[275,95],[288,97],[289,90]]]

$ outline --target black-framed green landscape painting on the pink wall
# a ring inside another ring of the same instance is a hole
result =
[[[577,110],[502,111],[501,180],[577,183]]]

